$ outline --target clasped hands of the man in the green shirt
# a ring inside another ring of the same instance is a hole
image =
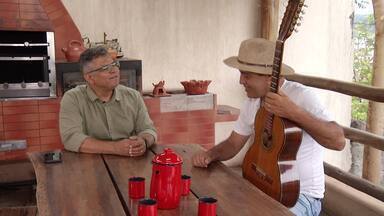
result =
[[[137,157],[143,155],[147,149],[143,138],[132,136],[129,139],[117,141],[115,150],[119,155]]]

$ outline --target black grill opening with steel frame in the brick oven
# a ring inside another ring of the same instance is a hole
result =
[[[0,98],[55,97],[53,32],[0,31]]]

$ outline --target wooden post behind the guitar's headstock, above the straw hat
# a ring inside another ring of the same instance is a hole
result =
[[[277,39],[280,0],[261,1],[261,37],[275,41]]]

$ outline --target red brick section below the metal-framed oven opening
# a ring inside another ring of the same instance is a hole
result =
[[[0,107],[0,139],[27,141],[27,149],[0,152],[0,160],[25,159],[27,152],[63,147],[58,127],[60,99],[3,101]]]

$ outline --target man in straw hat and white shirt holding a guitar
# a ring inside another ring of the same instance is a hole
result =
[[[282,64],[278,93],[269,92],[275,43],[261,38],[241,43],[239,55],[224,63],[240,71],[240,84],[247,99],[230,136],[209,151],[192,157],[194,166],[207,167],[212,161],[234,157],[254,133],[255,115],[260,108],[289,119],[303,129],[297,153],[300,196],[291,211],[296,215],[318,215],[324,197],[323,147],[342,150],[345,145],[343,129],[334,122],[315,93],[299,83],[284,79],[294,70]]]

